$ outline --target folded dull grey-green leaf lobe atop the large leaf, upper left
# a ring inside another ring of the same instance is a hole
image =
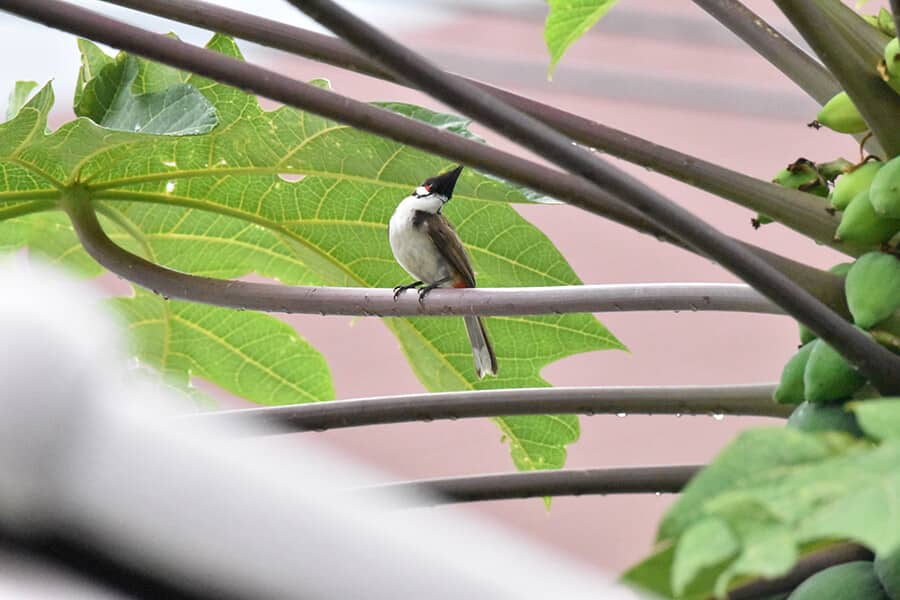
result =
[[[216,110],[193,86],[135,95],[138,59],[122,55],[107,64],[82,90],[75,114],[108,129],[158,135],[197,135],[216,126]]]

